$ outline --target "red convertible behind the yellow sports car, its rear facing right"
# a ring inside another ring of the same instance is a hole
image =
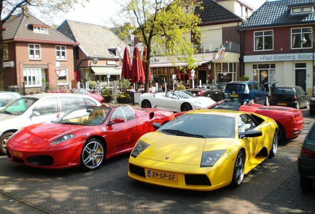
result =
[[[239,110],[268,116],[274,119],[278,124],[279,142],[297,138],[300,135],[305,122],[302,110],[291,107],[263,106],[255,103],[241,105],[240,103],[234,103],[230,100],[222,100],[209,107],[205,107],[205,109]],[[183,113],[185,113],[185,111],[175,113],[175,117]]]

